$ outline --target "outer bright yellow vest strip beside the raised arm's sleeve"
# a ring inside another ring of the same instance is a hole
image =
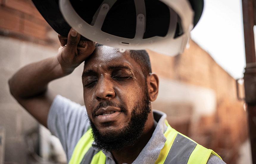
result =
[[[89,129],[78,141],[71,159],[68,164],[78,164],[81,163],[84,155],[90,149],[93,143],[92,139],[92,129]]]

